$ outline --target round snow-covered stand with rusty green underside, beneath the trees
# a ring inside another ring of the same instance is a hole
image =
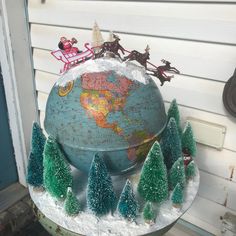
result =
[[[117,213],[114,216],[105,216],[101,219],[95,217],[91,213],[88,213],[86,208],[86,186],[87,175],[73,169],[72,171],[74,183],[73,190],[77,194],[83,212],[76,217],[69,217],[64,213],[63,202],[56,201],[47,192],[36,192],[32,187],[29,188],[31,198],[35,204],[35,214],[42,224],[42,226],[51,235],[65,235],[65,236],[82,236],[82,235],[117,235],[124,230],[124,235],[148,235],[159,236],[166,233],[177,220],[189,209],[192,205],[199,187],[199,171],[196,171],[196,176],[188,181],[186,186],[185,202],[181,209],[174,208],[169,200],[163,203],[158,209],[157,220],[153,225],[148,225],[143,222],[142,215],[137,218],[137,224],[127,222],[118,216]],[[136,191],[140,171],[132,175],[113,176],[112,181],[117,196],[122,191],[124,183],[129,178]],[[140,204],[140,209],[143,209],[144,202],[138,196],[136,197]],[[96,234],[97,233],[97,234]]]

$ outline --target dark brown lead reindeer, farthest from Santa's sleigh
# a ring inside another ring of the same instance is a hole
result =
[[[157,77],[161,82],[161,86],[163,86],[163,84],[166,81],[170,82],[170,80],[174,77],[174,75],[171,75],[171,76],[166,75],[165,71],[171,71],[177,74],[179,74],[180,72],[175,67],[171,67],[170,66],[171,63],[169,61],[162,59],[161,62],[163,62],[165,65],[158,66],[156,69],[148,68],[147,70],[153,72],[153,74],[149,74],[149,73],[147,74]]]

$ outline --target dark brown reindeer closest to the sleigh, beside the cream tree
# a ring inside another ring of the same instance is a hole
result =
[[[118,51],[121,50],[121,52],[125,54],[125,49],[119,44],[120,38],[118,35],[113,34],[113,38],[115,39],[113,42],[104,42],[101,45],[101,51],[95,55],[95,58],[103,57],[106,52],[112,52],[121,59]]]

